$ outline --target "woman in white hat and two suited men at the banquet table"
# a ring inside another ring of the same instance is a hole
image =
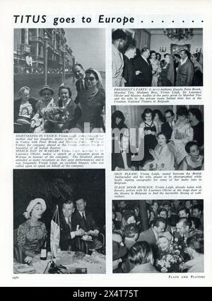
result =
[[[50,233],[45,222],[41,222],[42,214],[47,209],[45,200],[35,198],[30,200],[23,213],[26,221],[18,227],[17,243],[23,254],[23,262],[30,263],[40,254],[44,242],[50,250]],[[66,200],[59,209],[61,251],[92,251],[105,254],[105,246],[98,236],[100,228],[95,224],[92,213],[87,210],[84,198]],[[84,243],[84,244],[83,244]],[[82,245],[83,244],[83,245]]]

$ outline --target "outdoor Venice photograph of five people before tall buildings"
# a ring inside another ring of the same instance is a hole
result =
[[[16,28],[13,60],[15,133],[105,132],[104,29]]]

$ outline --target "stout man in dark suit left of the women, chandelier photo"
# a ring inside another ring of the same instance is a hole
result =
[[[141,55],[134,58],[134,67],[136,69],[135,86],[151,86],[153,74],[152,65],[148,57],[150,50],[147,47],[141,49]]]

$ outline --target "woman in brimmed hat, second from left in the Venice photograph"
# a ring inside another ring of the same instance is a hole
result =
[[[54,91],[49,86],[43,86],[39,95],[42,99],[37,102],[37,113],[32,119],[31,127],[35,129],[34,132],[45,132],[44,126],[47,114],[56,107],[52,97]]]

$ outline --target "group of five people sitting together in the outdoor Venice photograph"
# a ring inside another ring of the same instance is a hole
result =
[[[93,68],[85,71],[75,64],[73,75],[77,79],[75,99],[64,84],[56,97],[50,86],[43,86],[38,100],[30,95],[28,86],[21,87],[20,98],[14,103],[14,132],[105,132],[105,90],[100,72]]]

